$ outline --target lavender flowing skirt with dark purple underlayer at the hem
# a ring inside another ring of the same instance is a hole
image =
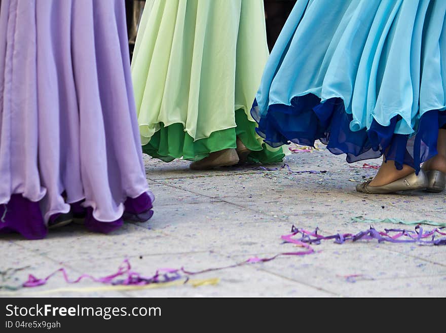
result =
[[[124,1],[0,1],[0,232],[150,218]]]

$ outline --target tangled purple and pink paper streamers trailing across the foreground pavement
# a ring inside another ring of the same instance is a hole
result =
[[[391,242],[391,243],[417,243],[419,245],[446,245],[446,238],[435,239],[436,235],[446,235],[446,232],[442,230],[446,227],[435,228],[431,231],[424,231],[421,226],[416,226],[414,231],[408,231],[404,229],[385,229],[384,231],[377,231],[373,227],[369,227],[368,230],[359,232],[357,234],[336,234],[330,236],[323,236],[319,233],[319,229],[316,228],[314,231],[307,231],[304,229],[299,229],[294,226],[291,228],[291,234],[281,236],[281,239],[284,243],[290,243],[298,247],[302,247],[302,251],[288,251],[278,253],[272,257],[259,258],[257,256],[250,257],[248,260],[244,262],[240,262],[234,265],[229,265],[225,267],[216,267],[216,268],[208,268],[201,271],[187,271],[183,267],[180,269],[172,269],[172,268],[162,268],[156,271],[155,275],[150,277],[144,277],[140,273],[135,272],[131,269],[131,265],[128,259],[124,260],[124,262],[119,267],[116,273],[111,275],[107,275],[101,278],[95,278],[89,274],[82,274],[75,280],[70,280],[64,268],[60,268],[52,274],[48,275],[46,278],[36,278],[33,275],[28,276],[28,280],[23,283],[23,287],[36,287],[43,284],[46,284],[50,278],[52,278],[58,272],[62,273],[62,276],[66,283],[78,283],[82,279],[91,279],[95,282],[108,284],[108,285],[119,285],[119,286],[145,286],[152,284],[165,284],[171,283],[177,280],[181,280],[185,278],[185,281],[182,284],[187,283],[190,276],[207,273],[207,272],[215,272],[224,269],[234,268],[238,266],[243,266],[247,264],[255,264],[255,263],[265,263],[274,260],[279,256],[301,256],[312,254],[315,252],[312,245],[320,244],[323,240],[334,240],[337,244],[344,244],[346,242],[356,242],[359,240],[377,240],[379,243],[381,242]],[[430,238],[429,240],[427,240]],[[346,276],[347,281],[352,282],[351,280],[354,277],[358,277],[358,275]],[[350,279],[350,280],[349,280]],[[203,280],[201,283],[196,283],[196,285],[205,285],[205,284],[214,284],[214,280]]]

